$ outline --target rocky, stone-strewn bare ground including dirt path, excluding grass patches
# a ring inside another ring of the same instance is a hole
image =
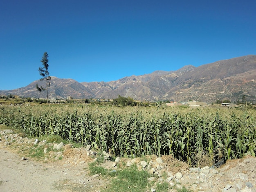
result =
[[[108,179],[88,173],[88,163],[95,161],[97,152],[90,150],[90,146],[72,148],[71,144],[62,144],[36,141],[9,129],[0,131],[0,191],[108,191]],[[43,146],[47,158],[36,161],[22,153],[33,150],[33,146]],[[54,150],[50,151],[50,147]],[[183,185],[195,192],[256,192],[256,158],[252,156],[229,160],[219,168],[189,168],[186,163],[171,156],[147,156],[148,161],[117,158],[113,162],[107,161],[110,154],[103,155],[106,162],[101,166],[115,170],[120,162],[125,166],[136,163],[153,175],[150,181],[167,182],[173,186],[170,192],[177,191]],[[145,191],[154,192],[155,188]]]

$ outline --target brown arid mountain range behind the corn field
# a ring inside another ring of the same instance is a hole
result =
[[[177,71],[154,71],[141,76],[124,77],[110,82],[82,82],[52,77],[49,98],[117,98],[135,100],[247,100],[256,102],[256,56],[248,55],[194,67],[187,65]],[[39,80],[19,89],[0,91],[25,97],[45,97],[35,88]]]

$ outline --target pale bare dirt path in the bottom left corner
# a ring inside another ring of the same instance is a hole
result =
[[[97,191],[104,181],[87,176],[84,165],[38,163],[0,146],[1,192]]]

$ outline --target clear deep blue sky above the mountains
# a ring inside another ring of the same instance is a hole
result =
[[[0,89],[198,67],[256,54],[255,0],[1,0]]]

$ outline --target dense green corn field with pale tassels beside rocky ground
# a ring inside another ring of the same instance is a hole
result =
[[[195,164],[256,153],[256,112],[238,109],[101,107],[93,105],[1,106],[0,124],[31,136],[59,135],[114,156],[172,154]]]

